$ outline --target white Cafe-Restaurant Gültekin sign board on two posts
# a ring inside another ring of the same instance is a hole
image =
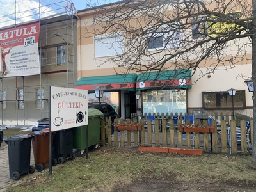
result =
[[[88,125],[88,91],[51,86],[51,131]]]

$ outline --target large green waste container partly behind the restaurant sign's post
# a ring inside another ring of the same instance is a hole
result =
[[[100,143],[100,122],[104,114],[98,109],[88,109],[88,147],[95,148]],[[84,156],[86,149],[85,125],[76,127],[73,134],[73,148],[78,150],[78,156]]]

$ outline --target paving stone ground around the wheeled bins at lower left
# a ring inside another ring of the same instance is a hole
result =
[[[34,156],[33,156],[33,148],[31,143],[31,160],[30,164],[35,166]],[[44,172],[49,171],[48,168],[45,168]],[[0,192],[6,191],[8,186],[17,186],[21,182],[24,182],[29,177],[35,177],[35,175],[42,174],[35,170],[33,174],[24,174],[20,176],[19,180],[10,179],[9,174],[9,157],[8,157],[8,145],[3,141],[0,147]]]

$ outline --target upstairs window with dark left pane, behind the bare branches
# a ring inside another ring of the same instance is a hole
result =
[[[147,33],[148,49],[172,49],[180,47],[182,42],[182,30],[179,25],[163,25],[159,29],[151,29],[152,33]],[[150,31],[150,30],[149,30]]]

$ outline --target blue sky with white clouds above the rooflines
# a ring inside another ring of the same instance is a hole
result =
[[[91,8],[102,4],[109,4],[120,0],[68,0],[73,2],[76,10]],[[40,17],[48,17],[56,13],[65,12],[65,0],[0,0],[0,28],[28,22]],[[68,3],[70,4],[70,3]],[[16,15],[15,15],[16,10]],[[16,18],[16,19],[15,19]]]

